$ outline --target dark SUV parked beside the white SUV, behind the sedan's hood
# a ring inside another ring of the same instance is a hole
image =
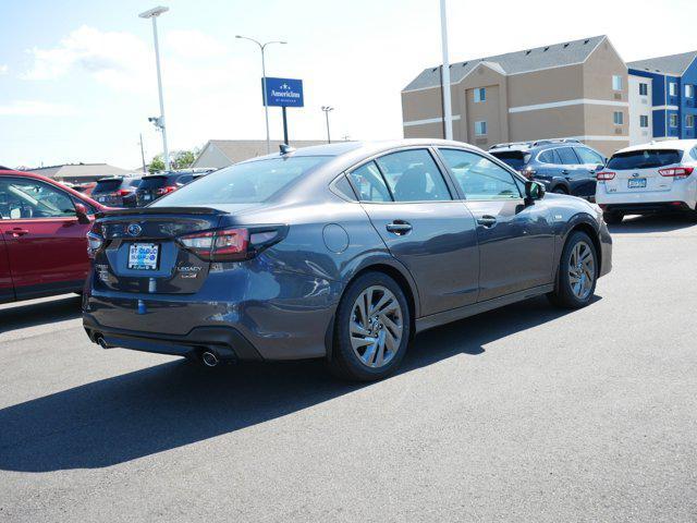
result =
[[[528,180],[542,182],[551,193],[587,199],[596,195],[596,172],[607,159],[577,139],[540,139],[497,144],[489,153]]]

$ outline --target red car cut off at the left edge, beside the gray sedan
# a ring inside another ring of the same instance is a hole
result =
[[[81,291],[85,235],[107,209],[48,178],[0,168],[0,303]]]

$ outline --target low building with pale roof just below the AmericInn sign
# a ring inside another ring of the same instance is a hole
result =
[[[278,153],[282,143],[280,139],[272,139],[271,151]],[[291,142],[291,146],[299,148],[326,143],[327,141],[323,139],[294,139]],[[210,139],[200,150],[192,167],[220,169],[266,154],[266,139]]]

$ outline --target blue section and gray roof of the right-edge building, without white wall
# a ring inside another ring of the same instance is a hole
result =
[[[627,65],[629,74],[643,76],[651,84],[653,137],[696,138],[697,51],[639,60]],[[685,86],[689,87],[686,89]],[[688,96],[688,89],[692,96]]]

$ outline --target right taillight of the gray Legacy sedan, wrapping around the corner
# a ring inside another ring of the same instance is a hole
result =
[[[203,259],[235,262],[249,259],[259,251],[285,238],[288,226],[220,229],[179,238],[180,243]]]

